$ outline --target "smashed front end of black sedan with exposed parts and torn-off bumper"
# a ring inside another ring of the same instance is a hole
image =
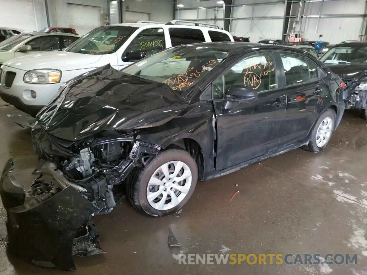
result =
[[[1,198],[8,211],[7,239],[14,254],[33,264],[73,270],[73,256],[104,253],[91,218],[110,213],[123,198],[127,176],[133,169],[148,164],[161,148],[137,140],[135,132],[121,134],[108,130],[70,147],[61,148],[58,143],[55,150],[54,137],[38,128],[38,132],[37,126],[33,128],[32,135],[37,140],[34,149],[40,163],[33,172],[37,178],[30,189],[25,192],[15,182],[11,175],[12,160],[1,177]],[[48,150],[51,147],[52,154]],[[23,215],[25,210],[28,214]],[[42,218],[37,219],[37,215]],[[25,232],[24,228],[29,226],[36,230]],[[42,250],[37,250],[39,236],[43,234],[52,240],[52,247],[44,244]],[[34,250],[21,249],[24,242]]]

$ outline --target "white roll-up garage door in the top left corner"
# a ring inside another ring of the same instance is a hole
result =
[[[33,1],[0,0],[0,26],[13,27],[25,32],[36,32]]]

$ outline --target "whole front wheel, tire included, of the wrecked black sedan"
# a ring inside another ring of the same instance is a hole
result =
[[[188,176],[185,180],[182,180],[179,183],[175,183],[175,181],[173,181],[174,179],[177,179],[177,177],[174,177],[167,182],[161,166],[168,168],[168,173],[171,176],[175,173],[175,168],[177,167],[178,169],[178,166],[181,165],[181,163],[183,163],[182,168],[178,171],[179,173],[177,173],[177,175],[183,177],[191,173],[191,176]],[[183,173],[185,173],[185,175],[183,175]],[[198,169],[196,161],[191,157],[191,155],[182,149],[169,149],[158,154],[151,162],[148,163],[148,165],[145,166],[144,169],[135,170],[134,174],[132,174],[127,180],[126,197],[130,201],[131,205],[139,211],[145,212],[146,214],[154,217],[167,216],[177,212],[183,205],[185,205],[186,202],[188,202],[195,190],[197,179]],[[150,182],[159,182],[160,184],[164,182],[164,185],[152,185]],[[179,184],[181,185],[178,186]],[[186,186],[186,184],[188,185]],[[150,188],[149,190],[148,186]],[[174,187],[180,188],[182,192],[178,191]],[[187,188],[188,190],[186,190]],[[151,199],[149,201],[148,195],[150,195],[150,197],[155,196],[153,192],[157,192],[157,194],[161,192],[159,195],[162,196],[166,194],[165,201],[163,202],[163,199],[159,197],[156,197],[153,201]],[[177,201],[172,200],[172,196],[175,195],[172,192],[178,194],[176,196]],[[176,204],[177,202],[178,204]],[[161,208],[162,203],[163,208]]]

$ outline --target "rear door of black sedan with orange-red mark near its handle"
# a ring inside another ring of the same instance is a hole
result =
[[[328,87],[321,77],[320,67],[306,56],[287,51],[278,54],[287,92],[285,142],[292,143],[308,135]]]

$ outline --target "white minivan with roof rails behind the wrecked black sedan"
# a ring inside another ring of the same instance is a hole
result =
[[[174,20],[167,24],[139,21],[98,27],[63,51],[5,62],[0,70],[0,96],[34,117],[63,83],[92,69],[110,64],[120,70],[146,55],[182,44],[234,41],[218,26],[199,24],[210,25]]]

